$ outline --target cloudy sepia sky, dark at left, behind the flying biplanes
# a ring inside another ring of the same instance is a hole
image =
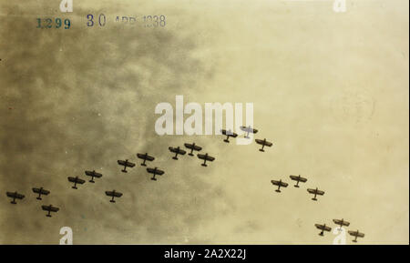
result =
[[[362,244],[408,244],[408,1],[347,0],[335,13],[333,1],[93,0],[67,14],[50,2],[0,4],[1,244],[58,244],[62,227],[75,244],[332,244],[314,224],[333,218]],[[177,95],[253,103],[273,147],[157,135],[155,106]],[[185,142],[216,160],[172,160],[168,147]],[[149,180],[138,152],[165,175]],[[128,174],[126,158],[138,162]],[[89,169],[103,177],[72,189],[67,177]],[[278,194],[272,179],[290,186]],[[51,194],[38,201],[32,187]],[[325,195],[314,202],[308,187]],[[11,205],[6,191],[26,198]]]

